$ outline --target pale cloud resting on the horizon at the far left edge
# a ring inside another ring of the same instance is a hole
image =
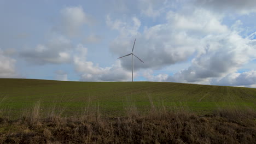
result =
[[[15,78],[19,77],[16,68],[16,60],[4,56],[4,52],[0,49],[0,77],[1,78]]]

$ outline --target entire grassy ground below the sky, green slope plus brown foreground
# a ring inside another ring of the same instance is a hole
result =
[[[255,143],[255,88],[0,79],[0,143]]]

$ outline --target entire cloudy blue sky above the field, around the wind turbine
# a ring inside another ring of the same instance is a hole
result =
[[[256,88],[255,0],[0,0],[0,78]],[[133,57],[134,58],[134,57]]]

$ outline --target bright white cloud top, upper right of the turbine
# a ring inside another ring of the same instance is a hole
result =
[[[169,11],[166,17],[168,23],[172,23],[173,28],[180,31],[185,30],[195,36],[228,32],[228,27],[221,23],[223,16],[213,14],[205,9],[195,9],[190,14]]]

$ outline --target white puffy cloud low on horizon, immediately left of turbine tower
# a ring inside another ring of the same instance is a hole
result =
[[[80,73],[80,81],[127,81],[131,78],[131,73],[121,67],[120,61],[111,67],[101,68],[86,60],[87,48],[82,44],[78,44],[76,51],[73,61],[75,71]]]

